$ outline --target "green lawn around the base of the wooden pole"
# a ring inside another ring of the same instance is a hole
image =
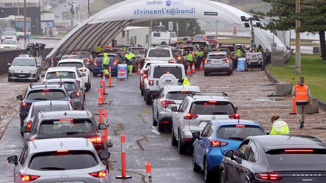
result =
[[[295,56],[283,66],[268,68],[277,78],[295,84],[299,76],[305,78],[305,83],[310,87],[313,97],[326,101],[326,61],[320,55],[301,54],[301,74],[295,73]]]

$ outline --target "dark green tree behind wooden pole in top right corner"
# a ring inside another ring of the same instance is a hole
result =
[[[267,12],[251,13],[271,17],[272,22],[265,25],[265,29],[290,30],[295,29],[295,19],[301,21],[298,32],[319,33],[321,57],[326,60],[326,0],[301,0],[300,13],[295,13],[295,0],[263,0],[271,4],[272,8]]]

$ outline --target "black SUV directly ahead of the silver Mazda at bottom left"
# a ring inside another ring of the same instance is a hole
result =
[[[21,132],[29,132],[25,140],[62,137],[89,138],[99,153],[107,150],[104,137],[100,129],[106,129],[104,123],[97,124],[89,110],[56,110],[42,112],[35,115],[31,130],[27,126],[21,128]]]

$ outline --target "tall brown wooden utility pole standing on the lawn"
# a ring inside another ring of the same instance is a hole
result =
[[[300,0],[295,0],[295,13],[300,12]],[[300,27],[300,20],[295,20],[295,29]],[[301,73],[300,32],[295,32],[295,72]]]

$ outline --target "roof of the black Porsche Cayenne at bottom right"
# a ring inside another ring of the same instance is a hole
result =
[[[317,137],[308,135],[261,135],[250,138],[259,141],[265,151],[284,148],[326,148]]]

